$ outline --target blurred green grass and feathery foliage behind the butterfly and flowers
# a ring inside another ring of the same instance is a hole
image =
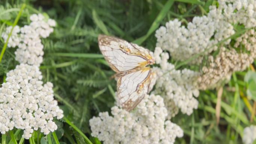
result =
[[[0,36],[7,26],[13,24],[23,2],[0,1]],[[116,81],[110,79],[114,72],[100,54],[98,34],[121,37],[154,50],[154,33],[160,25],[174,18],[187,24],[193,16],[205,15],[211,4],[217,5],[215,0],[26,0],[25,3],[18,25],[28,24],[28,16],[38,12],[47,13],[58,24],[54,33],[42,40],[45,55],[40,69],[43,81],[54,84],[55,98],[66,117],[66,123],[61,123],[63,126],[56,131],[60,144],[90,143],[87,138],[91,133],[89,119],[101,111],[110,111],[115,103]],[[238,27],[231,38],[245,31]],[[0,49],[3,47],[4,42],[0,38]],[[4,82],[6,73],[18,64],[14,52],[15,48],[7,48],[3,55],[0,83]],[[179,62],[177,67],[189,67],[186,65],[189,61],[191,59]],[[243,128],[250,125],[252,105],[252,101],[243,95],[247,92],[255,99],[255,85],[255,72],[233,74],[223,91],[219,126],[215,116],[217,92],[201,91],[198,110],[191,116],[178,114],[172,119],[185,132],[185,136],[177,138],[176,143],[240,144]],[[14,136],[21,140],[22,132],[16,132]],[[7,135],[6,141],[10,139]],[[34,141],[55,144],[56,137],[51,134],[37,136],[35,133]],[[100,144],[97,138],[91,138],[91,141]]]

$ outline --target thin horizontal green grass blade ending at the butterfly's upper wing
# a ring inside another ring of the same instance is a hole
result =
[[[54,56],[66,56],[73,58],[104,58],[101,54],[96,53],[52,53]]]

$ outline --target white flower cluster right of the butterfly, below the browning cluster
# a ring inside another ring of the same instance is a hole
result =
[[[161,56],[158,56],[160,53]],[[194,83],[198,73],[188,69],[175,70],[174,65],[167,62],[169,59],[168,53],[163,53],[159,47],[156,47],[154,57],[156,64],[160,63],[160,68],[153,68],[158,75],[153,93],[164,98],[168,110],[168,119],[174,117],[179,108],[184,114],[192,114],[193,109],[198,107],[198,101],[193,97],[199,95],[199,90],[196,89]]]

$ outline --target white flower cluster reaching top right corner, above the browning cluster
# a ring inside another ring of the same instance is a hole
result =
[[[246,28],[256,26],[255,0],[218,0],[218,3],[218,7],[210,6],[207,16],[194,17],[187,28],[177,19],[167,22],[156,31],[156,46],[168,50],[172,58],[184,61],[195,54],[205,52],[207,55],[216,50],[215,44],[235,33],[232,24],[243,24]],[[191,62],[201,61],[199,57]]]

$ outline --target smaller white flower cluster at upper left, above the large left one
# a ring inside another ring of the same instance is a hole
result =
[[[9,39],[8,47],[16,47],[15,59],[21,64],[30,64],[39,66],[43,62],[43,45],[40,37],[46,38],[52,32],[56,22],[46,18],[42,14],[33,14],[30,16],[32,21],[30,25],[19,28],[15,26],[12,36]],[[6,41],[12,27],[7,27],[6,32],[2,34]]]

